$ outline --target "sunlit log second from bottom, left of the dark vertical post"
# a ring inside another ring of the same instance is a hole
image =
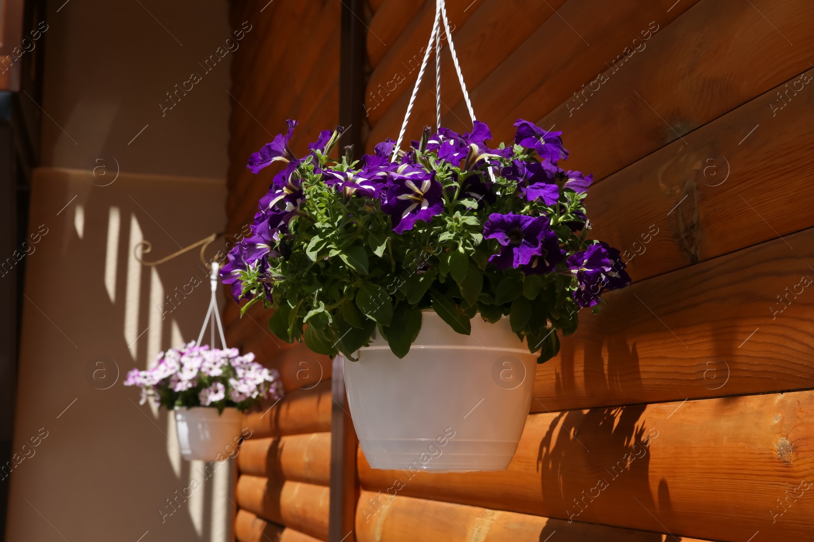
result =
[[[328,488],[241,475],[234,489],[238,506],[278,525],[328,540]]]

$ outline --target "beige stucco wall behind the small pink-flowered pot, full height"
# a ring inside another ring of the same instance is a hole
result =
[[[196,338],[208,305],[204,280],[157,308],[204,277],[197,251],[149,268],[133,246],[147,239],[145,259],[160,258],[224,227],[232,54],[206,73],[198,63],[230,37],[227,15],[226,0],[48,2],[29,228],[46,233],[26,256],[12,449],[30,457],[0,481],[11,483],[6,540],[228,536],[233,462],[200,474],[172,418],[121,384]],[[162,111],[196,71],[202,80]],[[192,479],[204,487],[176,500]]]

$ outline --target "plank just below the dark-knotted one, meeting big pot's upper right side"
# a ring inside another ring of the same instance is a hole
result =
[[[814,387],[810,266],[814,229],[607,294],[537,366],[532,411]]]

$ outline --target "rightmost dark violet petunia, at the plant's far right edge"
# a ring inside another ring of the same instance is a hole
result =
[[[602,292],[630,284],[619,250],[602,241],[568,258],[567,266],[579,282],[573,297],[581,307],[597,305]]]

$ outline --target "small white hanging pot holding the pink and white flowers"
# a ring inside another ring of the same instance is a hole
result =
[[[242,419],[234,406],[226,407],[222,414],[207,406],[177,407],[175,427],[182,457],[186,461],[229,457],[226,449],[238,442]]]

